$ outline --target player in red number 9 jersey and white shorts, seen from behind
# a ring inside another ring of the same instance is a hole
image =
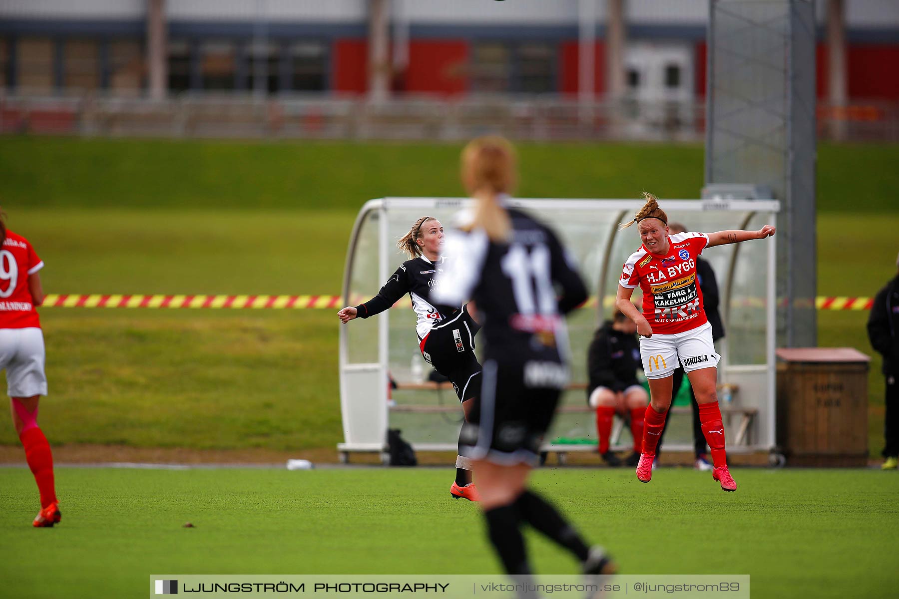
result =
[[[28,240],[6,229],[2,216],[0,243],[0,368],[6,369],[15,432],[40,490],[40,512],[32,524],[52,526],[62,516],[53,482],[53,454],[38,427],[38,399],[47,394],[44,336],[35,310],[44,301],[38,274],[44,263]]]

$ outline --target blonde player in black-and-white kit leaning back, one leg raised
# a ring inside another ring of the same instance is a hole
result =
[[[343,308],[337,316],[341,322],[369,318],[409,294],[418,316],[415,324],[418,348],[425,361],[452,383],[467,419],[481,388],[481,365],[475,357],[475,334],[479,325],[461,302],[455,305],[431,303],[430,290],[437,284],[434,277],[447,262],[441,256],[443,241],[443,225],[439,220],[433,216],[416,220],[409,233],[396,242],[411,260],[399,265],[378,295],[365,304]],[[457,499],[479,500],[471,481],[471,462],[461,454],[456,460],[456,480],[450,485],[449,493]]]

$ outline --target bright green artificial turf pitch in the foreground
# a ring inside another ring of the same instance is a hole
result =
[[[880,471],[539,470],[534,487],[622,574],[749,574],[752,597],[895,596],[899,477]],[[3,595],[146,596],[152,574],[494,574],[449,469],[60,468],[63,520],[31,528],[27,469],[0,469]],[[191,522],[194,528],[183,528]],[[422,534],[427,531],[427,534]],[[535,568],[574,574],[530,531]],[[15,551],[11,551],[15,548]]]

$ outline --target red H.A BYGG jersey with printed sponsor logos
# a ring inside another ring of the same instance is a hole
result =
[[[624,263],[619,285],[640,286],[643,315],[654,333],[682,333],[708,322],[696,277],[696,258],[707,245],[706,233],[676,233],[668,237],[668,253],[641,245]]]

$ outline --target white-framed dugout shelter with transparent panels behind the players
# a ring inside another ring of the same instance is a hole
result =
[[[379,198],[361,207],[350,236],[343,272],[343,305],[357,305],[407,260],[396,240],[421,216],[435,216],[450,229],[467,198]],[[618,224],[643,206],[635,199],[510,200],[554,228],[577,259],[591,299],[568,317],[572,383],[563,394],[548,451],[589,446],[595,418],[585,410],[586,352],[597,325],[610,316],[621,266],[640,241],[636,228]],[[670,222],[688,231],[759,229],[777,225],[775,200],[665,199]],[[775,445],[776,244],[770,240],[710,248],[703,253],[717,276],[725,339],[718,382],[731,401],[719,398],[730,451],[769,450]],[[639,302],[640,289],[634,301]],[[418,350],[415,316],[408,299],[369,319],[340,325],[340,401],[343,460],[352,452],[383,453],[387,428],[400,428],[417,451],[455,451],[462,411],[451,388],[423,379],[430,371]],[[479,339],[476,338],[476,343]],[[724,395],[724,394],[722,394]],[[743,414],[734,421],[727,415]],[[691,448],[690,418],[672,418],[664,446]],[[567,444],[567,445],[566,445]],[[621,445],[623,447],[624,445]],[[621,448],[619,447],[619,448]]]

